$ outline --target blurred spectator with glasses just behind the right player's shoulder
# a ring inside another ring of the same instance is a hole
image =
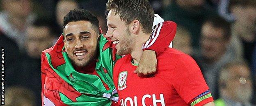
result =
[[[233,61],[228,47],[230,26],[229,22],[218,16],[208,18],[201,29],[201,51],[194,55],[214,99],[218,98],[216,83],[220,68]]]

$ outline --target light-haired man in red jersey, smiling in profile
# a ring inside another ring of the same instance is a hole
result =
[[[158,53],[157,73],[151,77],[140,78],[133,73],[143,57],[142,49],[150,47],[154,38],[176,32],[176,23],[171,21],[160,22],[152,30],[153,19],[148,0],[107,2],[106,35],[115,42],[117,54],[126,55],[117,61],[113,73],[119,105],[214,106],[197,63],[180,51],[165,48]],[[170,42],[161,42],[161,46]]]

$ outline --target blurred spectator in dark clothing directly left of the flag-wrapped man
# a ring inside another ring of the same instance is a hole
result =
[[[27,28],[25,50],[27,55],[21,60],[19,75],[16,79],[34,92],[37,106],[41,105],[41,53],[44,49],[53,46],[55,28],[52,22],[38,19]],[[29,81],[29,82],[28,82]]]

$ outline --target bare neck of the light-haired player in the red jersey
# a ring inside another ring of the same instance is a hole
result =
[[[131,52],[134,64],[139,64],[139,60],[142,56],[142,45],[149,39],[150,34],[141,33],[136,35],[135,45]]]

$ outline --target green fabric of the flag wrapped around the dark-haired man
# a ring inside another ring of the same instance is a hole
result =
[[[63,39],[64,38],[62,37],[62,39],[59,40],[62,40],[63,42]],[[114,55],[115,53],[112,53],[113,51],[110,46],[111,42],[106,40],[106,38],[103,37],[103,34],[101,34],[98,44],[98,61],[96,62],[95,67],[96,72],[100,77],[75,71],[68,54],[64,51],[64,46],[62,47],[62,55],[65,63],[62,65],[53,66],[52,58],[55,57],[52,57],[50,53],[46,53],[48,64],[53,71],[65,82],[70,84],[76,91],[81,93],[80,97],[76,98],[77,102],[72,102],[69,97],[59,92],[61,101],[64,104],[71,106],[110,106],[112,103],[111,99],[118,100],[112,73],[115,59],[119,59],[121,56]],[[114,59],[112,55],[114,55]],[[107,84],[110,90],[106,90],[101,80]]]

